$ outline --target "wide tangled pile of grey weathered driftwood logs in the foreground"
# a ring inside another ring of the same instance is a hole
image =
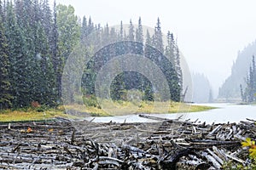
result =
[[[0,124],[0,169],[220,169],[250,163],[241,141],[255,139],[252,120],[212,124],[154,116],[159,122]]]

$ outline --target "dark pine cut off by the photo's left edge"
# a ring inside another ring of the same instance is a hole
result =
[[[9,82],[9,56],[8,43],[5,37],[3,20],[0,16],[0,109],[6,109],[11,106],[12,96],[10,94]]]

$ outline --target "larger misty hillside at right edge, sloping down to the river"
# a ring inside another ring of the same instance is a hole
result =
[[[238,52],[236,62],[232,66],[230,77],[218,89],[219,101],[240,101],[240,84],[245,87],[245,78],[247,77],[252,56],[256,54],[256,41],[247,45],[242,51]]]

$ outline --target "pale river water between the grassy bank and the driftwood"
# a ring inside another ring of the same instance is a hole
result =
[[[256,105],[234,105],[234,104],[196,104],[209,105],[218,107],[210,111],[201,111],[194,113],[178,113],[178,114],[150,114],[150,116],[158,116],[162,118],[175,119],[178,116],[183,116],[183,120],[207,122],[207,123],[224,123],[224,122],[240,122],[246,121],[246,118],[256,120]],[[156,122],[138,115],[128,116],[106,116],[106,117],[87,117],[86,120],[93,122]]]

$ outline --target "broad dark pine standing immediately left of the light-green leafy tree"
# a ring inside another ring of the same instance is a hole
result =
[[[44,27],[38,22],[35,34],[35,70],[33,74],[33,100],[44,105],[55,105],[55,75],[50,57],[48,37]],[[38,69],[39,68],[39,69]]]

